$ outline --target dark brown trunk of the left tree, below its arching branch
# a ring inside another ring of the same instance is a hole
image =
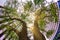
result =
[[[30,40],[27,36],[27,26],[24,23],[22,27],[22,31],[19,34],[19,40]]]

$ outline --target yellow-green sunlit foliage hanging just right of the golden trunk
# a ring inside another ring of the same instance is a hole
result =
[[[41,31],[45,31],[45,25],[46,25],[46,21],[45,21],[45,17],[47,16],[47,14],[45,14],[45,11],[41,11],[41,9],[37,9],[35,11],[35,16],[37,16],[37,20],[38,20],[38,25]]]

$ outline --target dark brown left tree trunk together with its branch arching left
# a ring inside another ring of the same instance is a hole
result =
[[[27,25],[24,21],[22,21],[21,19],[18,18],[11,18],[12,20],[18,20],[22,23],[22,31],[19,33],[19,40],[30,40],[27,36]]]

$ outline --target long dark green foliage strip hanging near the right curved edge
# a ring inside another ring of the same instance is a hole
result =
[[[57,13],[57,8],[56,8],[54,3],[50,4],[50,11],[51,11],[51,15],[54,19],[53,21],[57,22],[58,21],[58,17],[57,17],[57,14],[56,14]]]

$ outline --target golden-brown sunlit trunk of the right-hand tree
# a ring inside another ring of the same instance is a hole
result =
[[[46,40],[44,35],[40,32],[37,22],[38,22],[38,17],[36,17],[36,19],[34,21],[34,26],[32,29],[32,33],[34,35],[34,40]]]

